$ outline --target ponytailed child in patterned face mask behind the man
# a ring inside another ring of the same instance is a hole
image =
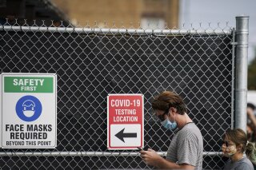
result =
[[[255,144],[247,140],[246,132],[241,128],[226,132],[222,142],[222,152],[224,156],[230,158],[224,170],[254,170],[253,163],[256,163]]]

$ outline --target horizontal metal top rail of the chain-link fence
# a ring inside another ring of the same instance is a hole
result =
[[[75,28],[75,27],[40,27],[40,26],[1,26],[6,31],[32,31],[32,32],[58,32],[78,34],[130,34],[130,35],[156,35],[156,36],[199,36],[199,35],[230,35],[232,30],[198,29],[198,30],[143,30],[143,29],[107,29],[107,28]]]

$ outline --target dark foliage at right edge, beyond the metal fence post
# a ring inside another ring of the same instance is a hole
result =
[[[256,53],[256,50],[255,50]],[[248,89],[256,90],[256,56],[248,65]]]

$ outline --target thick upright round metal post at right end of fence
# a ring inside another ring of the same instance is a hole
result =
[[[249,16],[236,17],[236,57],[234,86],[234,128],[246,132],[247,103],[247,58],[248,58]]]

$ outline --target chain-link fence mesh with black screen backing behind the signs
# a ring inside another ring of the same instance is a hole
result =
[[[0,27],[1,73],[57,73],[58,145],[0,149],[2,169],[152,168],[138,152],[106,148],[106,97],[144,94],[145,148],[165,156],[175,132],[152,117],[162,90],[181,95],[202,132],[203,168],[220,169],[222,135],[232,122],[232,31]],[[210,154],[212,153],[212,154]]]

